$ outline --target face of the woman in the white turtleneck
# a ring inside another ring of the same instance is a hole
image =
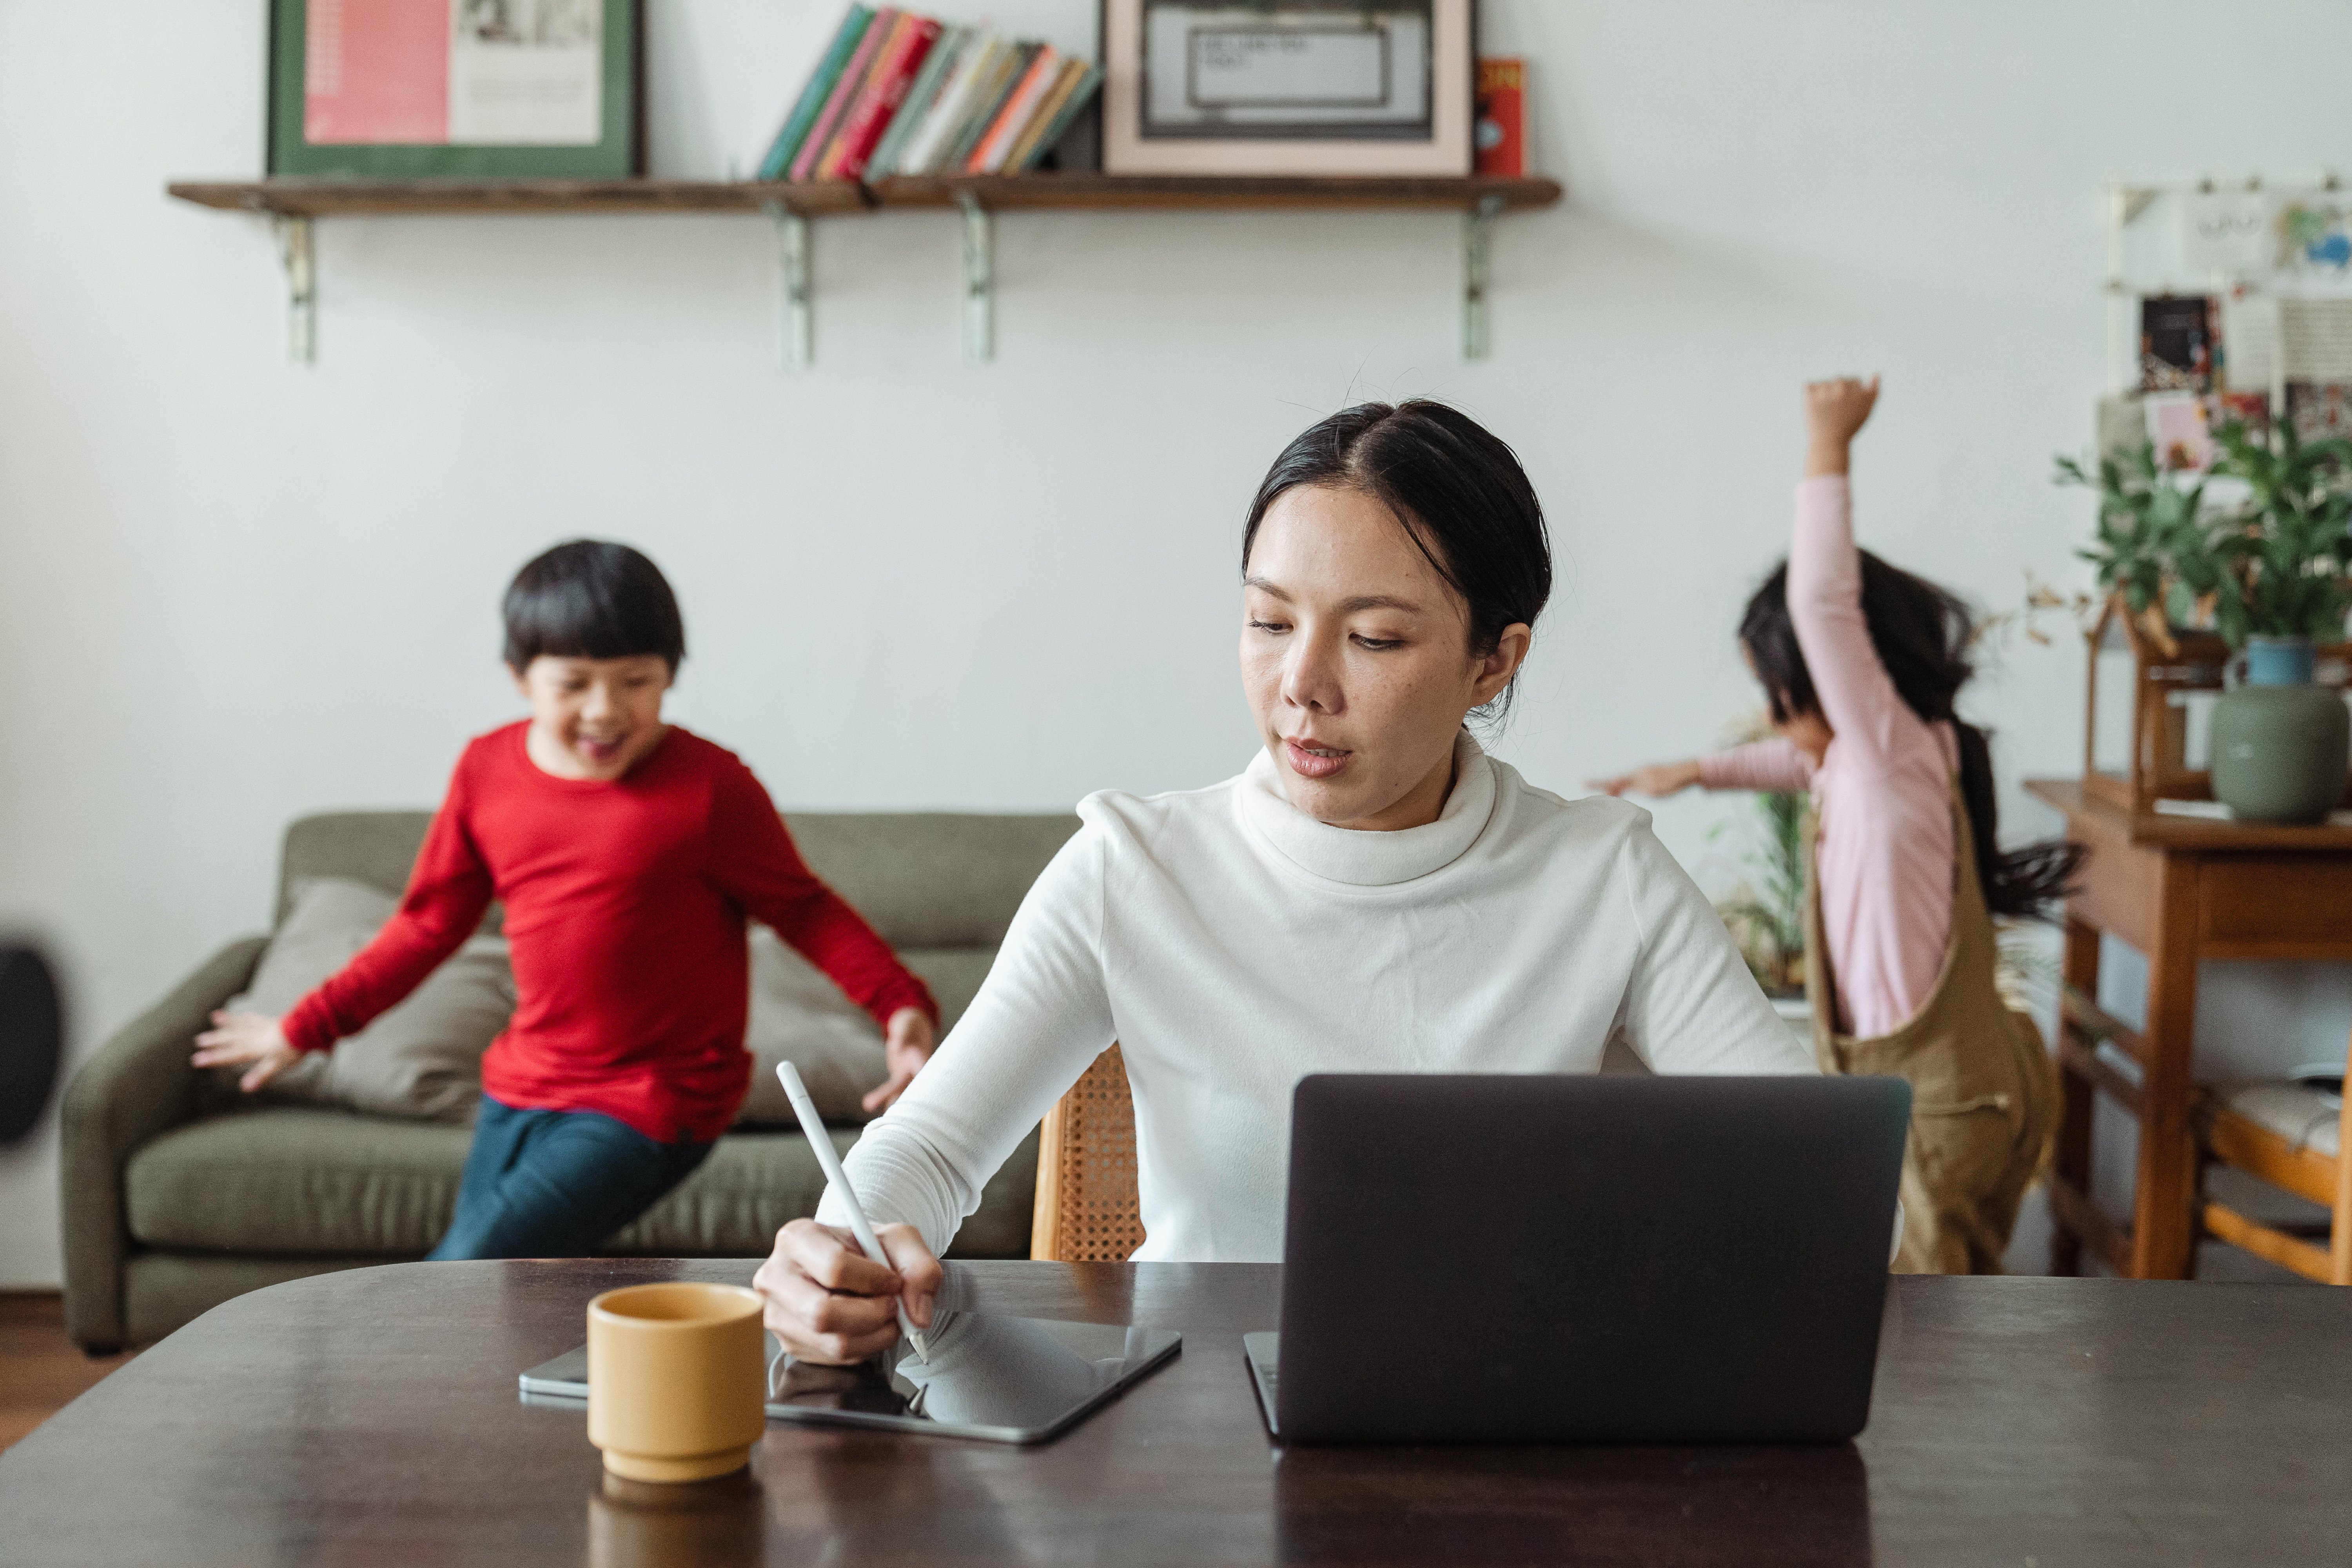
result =
[[[1289,802],[1334,827],[1435,823],[1463,715],[1510,684],[1529,628],[1470,651],[1470,609],[1376,496],[1284,491],[1242,581],[1242,689]]]

